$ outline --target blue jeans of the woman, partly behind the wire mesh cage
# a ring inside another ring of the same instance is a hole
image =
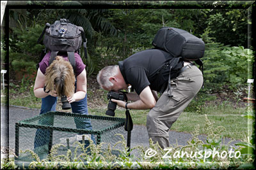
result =
[[[42,106],[40,115],[47,113],[48,111],[56,111],[57,97],[47,96],[42,98]],[[87,94],[81,101],[70,103],[72,113],[80,113],[81,115],[88,115],[87,109]],[[84,118],[74,118],[77,129],[92,130],[91,120],[84,120]],[[53,123],[53,122],[52,122]],[[39,120],[39,124],[44,124],[44,119]],[[49,125],[49,123],[48,123]],[[48,145],[50,138],[50,131],[45,129],[37,129],[35,135],[34,148],[39,146]],[[95,136],[91,135],[93,143],[95,142]],[[88,145],[88,142],[87,142]]]

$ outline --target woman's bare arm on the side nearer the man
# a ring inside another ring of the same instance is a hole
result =
[[[76,93],[73,96],[67,96],[69,103],[84,99],[87,92],[87,80],[85,69],[76,77]]]

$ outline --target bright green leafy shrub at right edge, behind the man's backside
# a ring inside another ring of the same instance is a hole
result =
[[[246,85],[252,78],[253,52],[243,46],[223,46],[220,43],[205,45],[204,82],[206,89],[230,89]]]

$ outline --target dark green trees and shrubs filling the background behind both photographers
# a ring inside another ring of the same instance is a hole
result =
[[[11,67],[28,67],[13,60],[38,62],[43,46],[36,45],[36,39],[46,22],[52,24],[59,18],[68,18],[84,28],[88,60],[84,60],[83,50],[81,57],[89,76],[133,53],[153,48],[152,39],[161,27],[179,27],[205,42],[205,90],[221,89],[225,84],[234,89],[252,78],[253,53],[242,46],[246,46],[247,40],[246,14],[243,9],[31,9],[22,13],[13,10],[12,16],[20,26],[10,34]]]

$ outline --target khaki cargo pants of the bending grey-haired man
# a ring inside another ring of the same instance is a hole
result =
[[[169,129],[201,89],[202,83],[202,72],[198,67],[191,65],[172,80],[173,96],[168,97],[167,88],[159,97],[156,106],[148,113],[148,138],[154,143],[158,142],[161,148],[170,146]]]

